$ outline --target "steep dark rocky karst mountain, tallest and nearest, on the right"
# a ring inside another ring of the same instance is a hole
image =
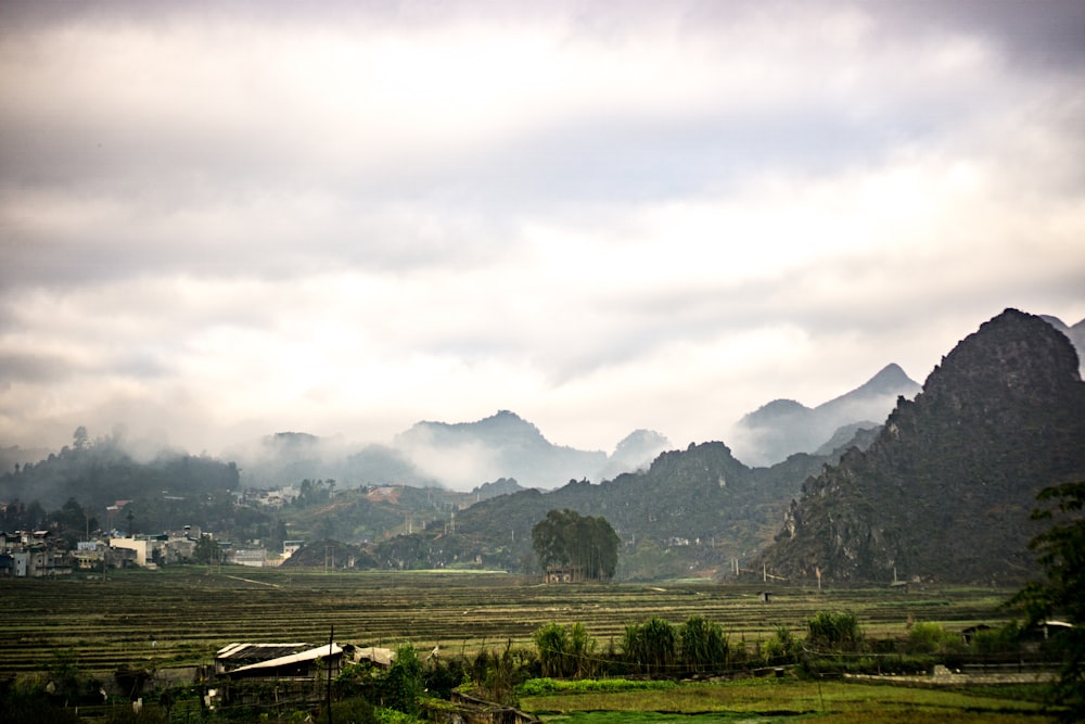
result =
[[[803,485],[764,556],[781,575],[1019,582],[1044,487],[1085,480],[1085,383],[1067,336],[1007,309],[901,399],[866,452]]]

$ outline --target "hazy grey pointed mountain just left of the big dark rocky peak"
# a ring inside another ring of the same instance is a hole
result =
[[[732,430],[736,454],[749,465],[773,465],[793,453],[814,453],[841,428],[872,428],[885,419],[897,397],[912,397],[919,384],[897,365],[888,365],[866,383],[815,408],[774,399],[745,415]],[[848,435],[841,433],[840,439]]]

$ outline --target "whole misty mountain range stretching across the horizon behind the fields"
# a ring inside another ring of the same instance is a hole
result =
[[[813,409],[763,406],[744,419],[776,440],[797,440],[771,431],[777,409],[782,427],[821,427],[804,442],[817,445],[812,452],[760,467],[723,442],[675,450],[646,430],[610,455],[556,446],[502,410],[476,422],[419,422],[390,445],[360,449],[277,433],[233,458],[240,467],[176,453],[137,462],[114,435],[16,463],[0,474],[0,499],[23,500],[4,508],[4,520],[24,521],[44,513],[26,501],[79,498],[85,511],[64,504],[73,534],[118,498],[135,500],[138,530],[176,524],[182,508],[181,522],[238,539],[281,541],[290,525],[292,537],[348,542],[357,555],[340,560],[358,567],[533,570],[532,526],[571,508],[611,522],[627,580],[760,576],[764,566],[796,581],[1019,581],[1032,570],[1036,493],[1085,480],[1085,383],[1068,334],[1080,339],[1083,328],[1007,309],[961,340],[914,398],[910,380],[890,365]],[[875,417],[893,393],[888,417]],[[864,409],[872,419],[850,419]],[[438,475],[473,488],[438,487]],[[304,499],[272,518],[237,505],[239,482],[299,481]]]

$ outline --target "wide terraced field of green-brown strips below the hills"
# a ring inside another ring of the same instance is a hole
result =
[[[626,623],[659,615],[717,621],[732,645],[767,639],[778,625],[796,632],[822,609],[855,612],[869,636],[903,636],[909,618],[954,631],[998,623],[1011,592],[912,588],[818,594],[711,582],[546,586],[478,572],[324,573],[195,567],[119,571],[99,579],[0,581],[0,676],[48,668],[63,652],[85,671],[208,664],[231,642],[328,640],[472,653],[526,644],[541,624],[580,622],[602,647]]]

